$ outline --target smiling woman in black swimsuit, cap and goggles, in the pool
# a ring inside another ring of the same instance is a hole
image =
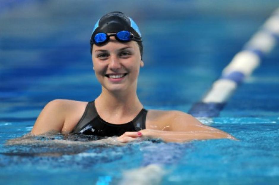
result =
[[[167,142],[234,139],[180,111],[145,110],[137,97],[142,38],[135,22],[121,12],[104,15],[91,36],[93,70],[102,93],[93,102],[57,99],[49,102],[31,133],[49,131],[118,136],[117,141],[160,138]]]

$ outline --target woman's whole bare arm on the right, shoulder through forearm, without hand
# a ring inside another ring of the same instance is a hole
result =
[[[184,112],[154,111],[150,113],[151,121],[147,129],[140,131],[143,137],[160,138],[166,142],[185,142],[196,139],[235,139],[226,132],[202,124],[196,118]]]

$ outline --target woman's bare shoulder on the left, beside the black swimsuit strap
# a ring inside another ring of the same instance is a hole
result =
[[[52,100],[43,108],[31,132],[41,134],[51,130],[72,131],[81,118],[87,103],[66,99]]]

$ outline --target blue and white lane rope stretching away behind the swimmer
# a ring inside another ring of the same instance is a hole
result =
[[[234,55],[210,90],[188,111],[195,117],[217,117],[237,87],[259,66],[279,41],[279,8],[266,20],[258,32]]]

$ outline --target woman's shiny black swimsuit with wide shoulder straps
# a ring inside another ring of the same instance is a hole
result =
[[[82,133],[95,136],[121,136],[125,132],[140,131],[145,129],[147,110],[142,108],[139,114],[130,122],[124,124],[112,124],[103,120],[95,107],[95,103],[89,102],[83,116],[77,123],[72,133]]]

